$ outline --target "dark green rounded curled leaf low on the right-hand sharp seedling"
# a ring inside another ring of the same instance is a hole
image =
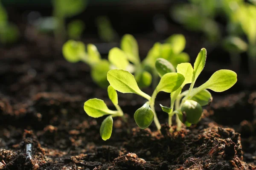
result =
[[[203,109],[198,102],[195,102],[193,100],[186,100],[181,107],[181,113],[182,114],[178,115],[181,122],[196,124],[201,118]]]

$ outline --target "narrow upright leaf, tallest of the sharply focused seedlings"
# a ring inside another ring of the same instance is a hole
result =
[[[192,79],[192,82],[195,82],[201,71],[204,69],[206,54],[207,52],[205,48],[202,48],[201,51],[198,53],[198,56],[196,57],[194,63],[194,79]]]

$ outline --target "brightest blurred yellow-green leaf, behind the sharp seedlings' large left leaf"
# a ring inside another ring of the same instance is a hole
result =
[[[126,70],[129,61],[126,54],[119,48],[114,47],[108,53],[108,60],[118,69]]]

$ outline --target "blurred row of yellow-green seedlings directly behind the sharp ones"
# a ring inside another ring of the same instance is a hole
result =
[[[111,69],[123,69],[134,74],[140,88],[151,85],[152,76],[154,83],[158,83],[157,71],[154,63],[157,58],[167,59],[174,66],[181,62],[188,62],[189,55],[182,52],[186,40],[181,34],[174,34],[165,43],[157,42],[148,52],[147,57],[141,62],[137,41],[130,34],[122,37],[120,48],[114,47],[108,53],[108,60],[102,59],[96,46],[87,45],[87,52],[83,42],[69,40],[63,45],[63,55],[69,62],[83,61],[91,67],[91,77],[100,87],[106,88],[107,72]]]

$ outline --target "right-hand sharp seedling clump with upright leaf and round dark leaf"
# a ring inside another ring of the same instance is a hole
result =
[[[168,108],[161,105],[162,110],[169,114],[170,126],[172,125],[172,116],[174,114],[177,115],[177,130],[180,130],[181,128],[181,122],[189,127],[200,120],[203,111],[202,106],[207,105],[212,101],[212,96],[207,89],[215,92],[226,91],[237,81],[237,75],[234,71],[219,70],[212,74],[207,82],[198,88],[194,88],[195,81],[204,68],[206,55],[206,49],[202,48],[195,60],[194,67],[192,67],[190,63],[181,63],[177,65],[177,73],[182,74],[185,77],[185,80],[176,91],[171,93],[171,107]],[[170,65],[170,63],[167,61],[165,63],[162,62],[162,65]],[[159,70],[162,68],[164,68],[164,66],[159,67]],[[190,84],[190,88],[189,90],[182,92],[182,89],[186,84]]]

